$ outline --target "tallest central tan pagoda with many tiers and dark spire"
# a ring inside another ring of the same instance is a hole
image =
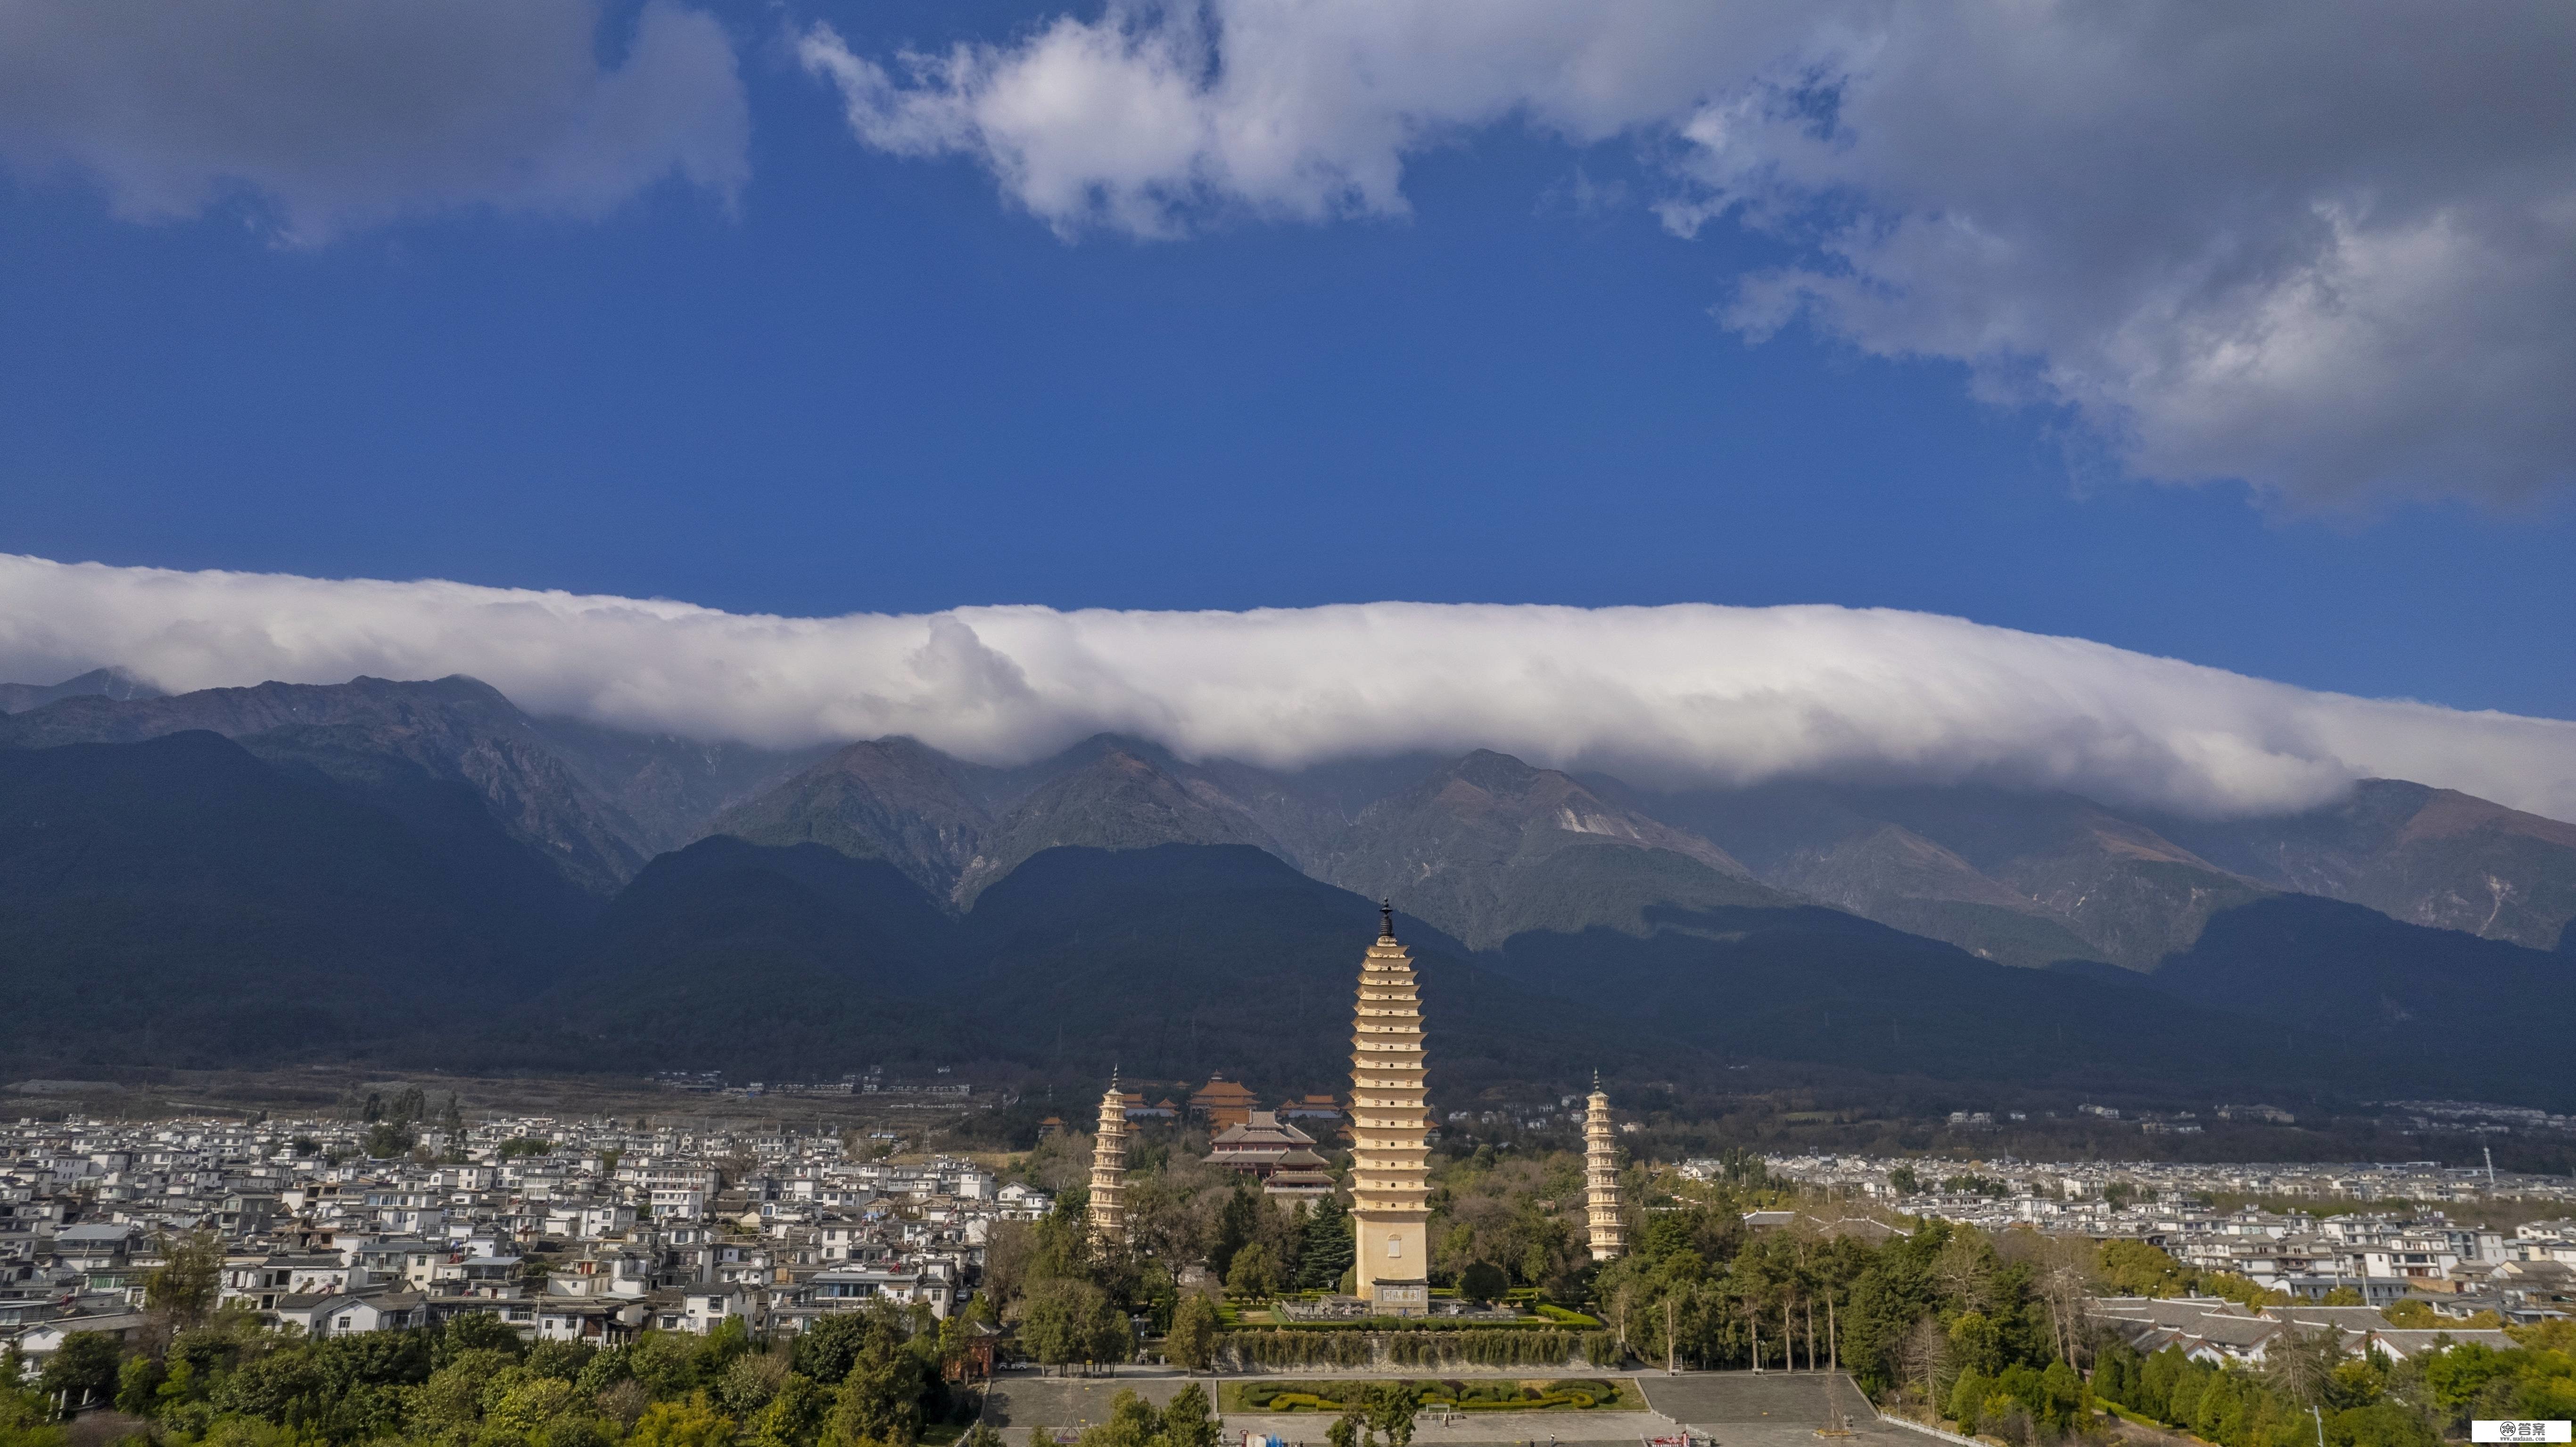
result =
[[[1422,1097],[1422,994],[1378,909],[1378,942],[1360,960],[1350,1038],[1350,1195],[1355,1290],[1383,1316],[1425,1316],[1430,1282],[1430,1105]]]

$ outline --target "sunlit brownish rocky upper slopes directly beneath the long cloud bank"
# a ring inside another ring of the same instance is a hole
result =
[[[1051,847],[1249,845],[1399,896],[1476,950],[1533,929],[1651,932],[1656,911],[1824,904],[1999,963],[2154,971],[2213,917],[2280,893],[2537,950],[2576,917],[2576,824],[2403,780],[2298,816],[2192,821],[1973,785],[1646,793],[1486,749],[1280,772],[1097,736],[989,767],[912,739],[768,752],[531,718],[464,677],[85,690],[0,718],[0,747],[183,729],[361,793],[389,788],[386,770],[466,785],[595,899],[732,834],[884,860],[948,909]]]

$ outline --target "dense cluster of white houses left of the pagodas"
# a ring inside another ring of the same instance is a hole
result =
[[[492,1313],[536,1339],[793,1334],[876,1300],[948,1316],[987,1233],[1043,1192],[837,1135],[544,1117],[366,1159],[348,1123],[0,1125],[0,1341],[131,1336],[173,1241],[222,1241],[222,1305],[317,1336]]]

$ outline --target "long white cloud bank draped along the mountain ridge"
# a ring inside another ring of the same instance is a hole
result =
[[[1896,610],[770,618],[0,556],[0,677],[93,664],[170,690],[466,672],[533,713],[757,744],[912,734],[987,762],[1095,731],[1275,767],[1489,747],[1638,783],[1984,780],[2197,814],[2298,808],[2388,775],[2576,819],[2576,724],[2308,693]]]

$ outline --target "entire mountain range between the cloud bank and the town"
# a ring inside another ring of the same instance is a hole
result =
[[[2403,1050],[2421,1089],[2571,1089],[2445,1045],[2576,1027],[2576,826],[2403,780],[2197,821],[1484,749],[773,752],[466,677],[165,698],[98,669],[0,703],[0,981],[41,1007],[0,1053],[28,1058],[129,1058],[139,1017],[209,1061],[1288,1071],[1340,1050],[1350,929],[1388,896],[1453,963],[1461,1063],[1497,1074],[1654,1040],[1692,1069],[2362,1089]]]

